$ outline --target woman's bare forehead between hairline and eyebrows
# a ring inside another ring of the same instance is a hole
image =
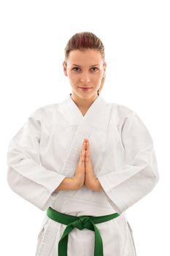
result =
[[[92,66],[94,64],[101,64],[102,58],[101,53],[98,50],[72,50],[69,53],[68,61],[69,64],[77,64],[80,66]]]

